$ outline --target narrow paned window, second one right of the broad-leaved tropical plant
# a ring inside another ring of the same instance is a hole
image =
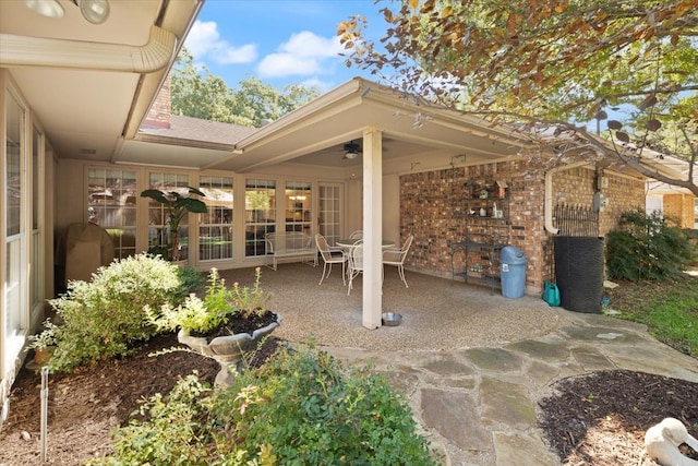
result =
[[[244,255],[246,258],[265,255],[264,236],[276,230],[276,182],[245,180],[244,208]]]

